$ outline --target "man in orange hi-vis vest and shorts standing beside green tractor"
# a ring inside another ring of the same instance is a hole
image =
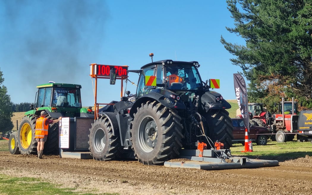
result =
[[[35,139],[38,142],[37,152],[40,159],[42,159],[44,143],[48,136],[49,124],[57,123],[62,119],[60,116],[58,119],[50,120],[46,118],[46,115],[46,111],[41,111],[40,118],[36,120]]]

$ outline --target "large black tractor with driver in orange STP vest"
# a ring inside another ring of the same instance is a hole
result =
[[[90,152],[96,160],[125,157],[127,151],[143,164],[163,164],[178,158],[182,149],[198,143],[224,149],[232,144],[232,122],[225,109],[231,105],[203,82],[197,61],[163,60],[140,70],[135,95],[122,97],[110,112],[100,112],[89,135]],[[110,71],[115,84],[116,72]],[[132,150],[131,150],[132,149]],[[133,155],[133,153],[132,153]]]

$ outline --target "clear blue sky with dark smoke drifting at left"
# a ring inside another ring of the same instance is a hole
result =
[[[0,70],[13,103],[34,102],[36,86],[55,81],[82,85],[82,105],[94,105],[89,64],[136,70],[151,62],[149,53],[154,61],[198,61],[202,79],[220,79],[215,91],[235,99],[233,73],[241,68],[220,37],[244,40],[225,28],[234,27],[225,0],[0,0],[0,15]],[[119,86],[100,79],[98,103],[120,100]]]

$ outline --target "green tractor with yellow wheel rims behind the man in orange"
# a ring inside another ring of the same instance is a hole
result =
[[[35,103],[31,110],[24,114],[24,118],[18,128],[17,134],[12,140],[17,142],[9,143],[11,154],[36,154],[37,141],[35,140],[36,120],[40,117],[42,110],[45,110],[48,119],[61,117],[94,117],[91,107],[81,107],[80,89],[81,85],[50,83],[38,85]],[[45,142],[43,154],[56,154],[59,144],[59,124],[50,124],[47,141]],[[13,147],[13,148],[12,148]],[[12,152],[11,152],[12,151]]]

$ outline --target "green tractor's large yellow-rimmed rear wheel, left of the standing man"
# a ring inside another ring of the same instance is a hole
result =
[[[37,115],[24,116],[18,128],[18,147],[21,154],[36,154],[37,141],[35,140],[35,127]]]

